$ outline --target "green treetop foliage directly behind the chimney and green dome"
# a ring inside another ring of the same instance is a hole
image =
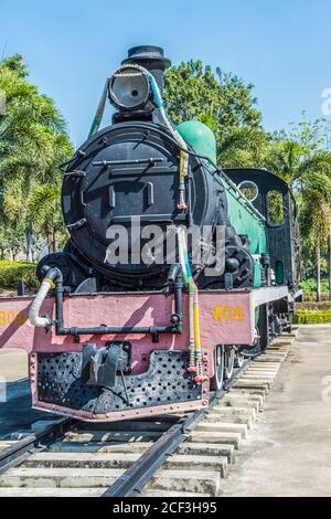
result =
[[[236,75],[220,68],[214,73],[191,60],[167,71],[164,102],[175,125],[197,119],[214,131],[224,167],[258,166],[269,136],[261,129],[253,88]]]

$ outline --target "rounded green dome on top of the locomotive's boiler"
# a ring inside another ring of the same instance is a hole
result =
[[[177,131],[196,153],[209,157],[213,162],[216,162],[216,139],[211,128],[193,119],[181,123],[177,127]]]

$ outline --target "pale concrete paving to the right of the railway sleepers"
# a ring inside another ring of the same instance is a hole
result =
[[[300,327],[223,496],[331,496],[331,327]]]

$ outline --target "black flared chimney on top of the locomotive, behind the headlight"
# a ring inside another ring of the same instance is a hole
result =
[[[161,94],[163,93],[164,71],[171,65],[171,61],[164,57],[164,51],[156,45],[132,46],[128,51],[128,57],[122,65],[135,63],[147,68],[156,78]]]

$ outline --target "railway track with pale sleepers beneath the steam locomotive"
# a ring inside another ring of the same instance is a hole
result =
[[[220,496],[293,340],[275,339],[206,410],[107,425],[62,420],[0,443],[0,497]]]

